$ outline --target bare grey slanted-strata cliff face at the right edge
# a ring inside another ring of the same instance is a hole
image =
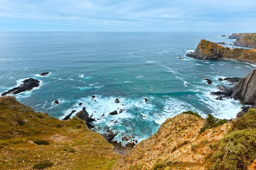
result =
[[[256,106],[256,69],[236,83],[231,97],[240,100],[242,104]]]

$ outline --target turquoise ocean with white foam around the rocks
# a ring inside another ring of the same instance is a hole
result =
[[[38,79],[40,86],[13,96],[36,112],[58,119],[85,107],[97,120],[92,122],[93,130],[118,132],[114,139],[122,144],[126,143],[124,136],[130,141],[150,137],[166,119],[187,110],[202,117],[212,114],[231,119],[243,105],[234,99],[216,100],[210,93],[218,91],[218,84],[234,85],[218,78],[246,77],[256,66],[185,56],[195,51],[201,39],[235,41],[220,35],[223,33],[0,32],[0,94],[27,78]],[[43,72],[49,74],[40,76]],[[207,84],[205,78],[213,84]],[[120,103],[115,103],[117,98]],[[56,99],[59,104],[54,104]],[[122,113],[109,115],[121,109]]]

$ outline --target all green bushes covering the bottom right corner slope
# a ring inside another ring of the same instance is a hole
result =
[[[249,109],[248,113],[235,120],[233,124],[233,132],[218,142],[216,152],[210,157],[209,170],[247,170],[247,166],[254,161],[256,110]]]

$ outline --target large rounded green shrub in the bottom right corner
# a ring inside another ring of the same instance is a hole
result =
[[[209,170],[243,170],[256,157],[256,129],[237,130],[226,135],[213,153]]]

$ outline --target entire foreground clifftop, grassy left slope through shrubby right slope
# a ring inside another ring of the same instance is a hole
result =
[[[167,119],[125,157],[73,117],[36,113],[0,98],[0,168],[4,170],[254,170],[256,110],[227,123],[191,111]]]

